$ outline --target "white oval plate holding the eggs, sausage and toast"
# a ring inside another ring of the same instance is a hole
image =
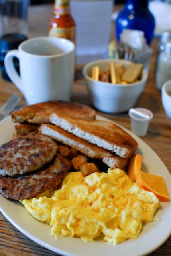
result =
[[[98,119],[102,120],[104,118],[98,116]],[[0,122],[0,144],[12,138],[13,130],[14,124],[10,117]],[[138,142],[137,152],[143,156],[142,170],[148,170],[151,174],[163,176],[171,197],[171,175],[163,162],[140,138],[128,130],[126,131]],[[33,218],[19,202],[7,200],[0,195],[0,210],[2,214],[18,230],[41,246],[65,256],[142,256],[149,254],[161,246],[171,234],[171,202],[161,202],[160,206],[155,217],[161,218],[161,221],[155,221],[145,225],[137,239],[130,239],[114,246],[114,244],[109,244],[101,240],[85,243],[80,238],[62,236],[60,240],[55,240],[50,235],[51,227],[48,224],[44,224]]]

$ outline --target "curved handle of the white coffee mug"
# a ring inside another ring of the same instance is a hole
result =
[[[4,58],[4,66],[8,76],[10,77],[11,81],[15,84],[15,86],[24,94],[24,88],[22,86],[22,80],[16,71],[14,66],[13,58],[18,58],[20,62],[20,53],[19,50],[10,50]]]

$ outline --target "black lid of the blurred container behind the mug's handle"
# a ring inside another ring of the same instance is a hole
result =
[[[23,34],[6,34],[0,38],[0,52],[6,53],[9,50],[17,49],[19,44],[26,40]]]

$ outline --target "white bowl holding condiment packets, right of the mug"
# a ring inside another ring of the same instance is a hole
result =
[[[95,81],[90,77],[93,66],[99,66],[100,72],[102,72],[110,62],[123,63],[125,66],[131,63],[127,60],[114,59],[101,59],[89,62],[83,67],[84,81],[95,108],[111,114],[125,112],[136,104],[138,97],[143,92],[147,82],[147,73],[143,70],[139,82],[126,85]]]

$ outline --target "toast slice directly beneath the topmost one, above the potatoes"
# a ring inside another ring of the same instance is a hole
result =
[[[108,152],[107,150],[99,148],[98,146],[63,130],[59,126],[55,126],[54,124],[41,124],[39,127],[39,132],[44,135],[48,135],[67,146],[77,149],[79,152],[90,158],[102,160],[102,162],[110,168],[123,169],[128,164],[128,159],[121,158],[112,154],[111,152]]]

